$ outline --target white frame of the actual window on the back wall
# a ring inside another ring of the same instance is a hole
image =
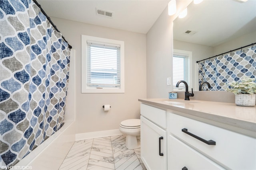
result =
[[[110,87],[104,86],[97,88],[96,86],[87,85],[87,41],[94,41],[105,45],[119,45],[120,46],[120,86]],[[124,93],[124,41],[106,39],[101,37],[93,37],[89,35],[82,35],[82,93]]]

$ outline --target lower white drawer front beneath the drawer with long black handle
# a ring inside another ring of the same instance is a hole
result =
[[[168,170],[224,169],[172,135],[168,136],[168,148]]]

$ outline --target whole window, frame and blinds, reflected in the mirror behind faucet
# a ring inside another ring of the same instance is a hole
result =
[[[179,85],[179,88],[176,88],[176,84],[180,80],[185,80],[188,83],[188,87],[192,85],[192,71],[190,70],[191,58],[192,52],[174,49],[172,58],[172,82],[175,90],[185,89],[183,83]]]

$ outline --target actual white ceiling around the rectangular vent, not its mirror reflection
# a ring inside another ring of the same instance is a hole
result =
[[[170,0],[37,0],[49,17],[146,34]],[[100,16],[96,8],[113,12]],[[58,28],[58,25],[57,25]]]

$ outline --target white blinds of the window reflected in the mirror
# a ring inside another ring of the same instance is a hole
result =
[[[185,80],[190,86],[189,82],[189,61],[187,55],[178,55],[173,54],[172,58],[172,70],[173,70],[173,87],[176,87],[176,84],[180,80]],[[184,84],[181,83],[179,88],[185,88]]]

